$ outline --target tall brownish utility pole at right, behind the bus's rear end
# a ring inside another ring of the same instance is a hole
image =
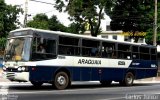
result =
[[[155,0],[153,45],[157,45],[157,0]]]

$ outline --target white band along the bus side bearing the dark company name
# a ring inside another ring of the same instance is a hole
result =
[[[86,63],[78,63],[79,60],[84,59]],[[100,61],[101,64],[89,64],[87,61]],[[125,63],[125,65],[119,65],[119,61]],[[80,67],[109,67],[109,68],[128,68],[132,60],[124,59],[108,59],[108,58],[92,58],[92,57],[74,57],[74,56],[64,56],[64,59],[53,59],[53,60],[44,60],[37,61],[36,65],[38,66],[80,66]]]

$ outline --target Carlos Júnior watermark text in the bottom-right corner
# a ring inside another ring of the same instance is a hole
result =
[[[159,100],[160,94],[126,94],[126,100]]]

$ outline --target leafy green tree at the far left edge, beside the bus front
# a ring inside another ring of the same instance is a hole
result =
[[[0,37],[6,37],[11,30],[17,28],[20,24],[18,15],[22,12],[19,6],[7,5],[4,0],[0,0]]]

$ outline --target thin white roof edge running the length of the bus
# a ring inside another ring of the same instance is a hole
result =
[[[93,40],[103,40],[103,41],[109,41],[109,42],[118,42],[118,43],[124,43],[128,45],[141,45],[141,46],[147,46],[147,47],[155,47],[153,45],[147,45],[147,44],[141,44],[141,43],[132,43],[132,42],[127,42],[127,41],[118,41],[118,40],[111,40],[111,39],[105,39],[105,38],[100,38],[100,37],[92,37],[88,35],[80,35],[80,34],[73,34],[73,33],[67,33],[67,32],[61,32],[61,31],[51,31],[51,30],[44,30],[44,29],[36,29],[36,28],[20,28],[11,31],[12,32],[18,32],[18,31],[26,31],[26,30],[31,30],[31,31],[36,31],[36,32],[46,32],[49,34],[57,34],[57,35],[65,35],[65,36],[71,36],[71,37],[79,37],[79,38],[87,38],[87,39],[93,39]]]

